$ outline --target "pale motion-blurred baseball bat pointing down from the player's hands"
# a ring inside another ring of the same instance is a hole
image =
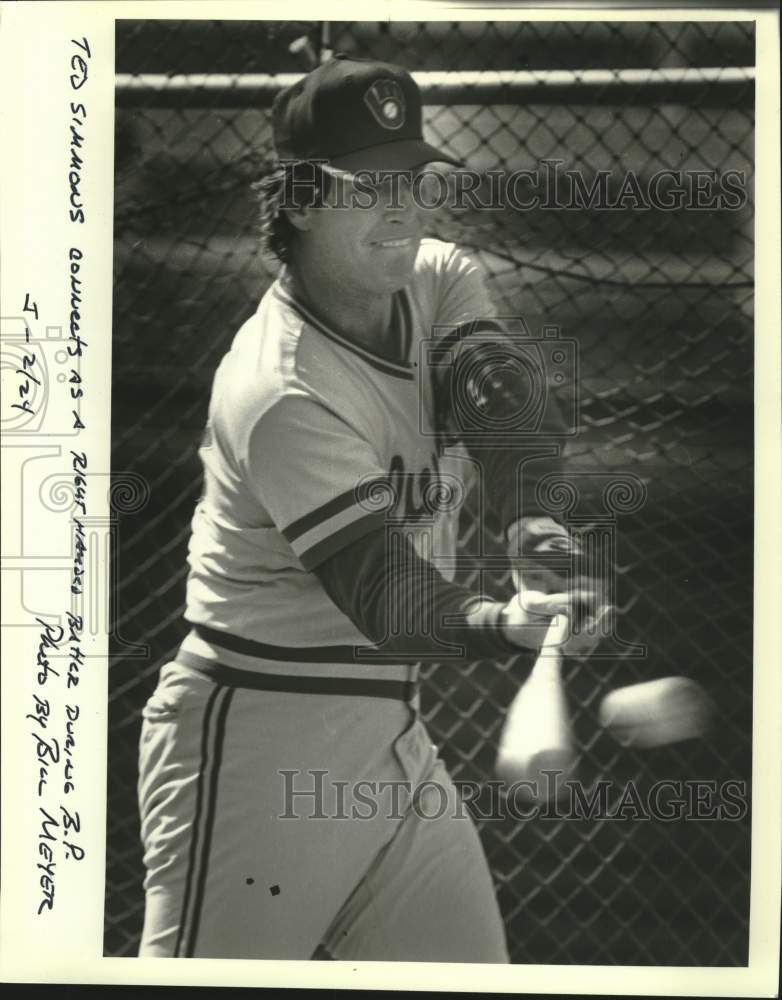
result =
[[[551,796],[559,782],[543,774],[572,775],[576,752],[562,680],[562,650],[568,635],[567,615],[551,620],[527,680],[511,703],[499,741],[495,771],[509,784],[534,782],[535,798]],[[553,788],[552,788],[553,786]],[[527,786],[529,788],[529,786]]]

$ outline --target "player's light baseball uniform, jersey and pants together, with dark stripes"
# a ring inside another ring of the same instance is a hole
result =
[[[354,660],[367,639],[310,570],[384,522],[372,484],[395,483],[407,515],[443,474],[418,345],[433,324],[489,309],[470,260],[426,240],[394,296],[402,360],[324,326],[283,277],[220,365],[187,617],[264,655],[191,633],[189,662],[163,667],[144,708],[141,955],[508,961],[477,831],[412,692],[253,690],[191,669],[200,658],[329,681],[411,677],[398,660]],[[381,791],[392,786],[409,788],[399,811]]]

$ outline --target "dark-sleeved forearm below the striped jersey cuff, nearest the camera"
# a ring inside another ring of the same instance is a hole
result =
[[[406,658],[469,660],[518,653],[503,632],[504,605],[447,581],[409,542],[392,554],[384,531],[358,539],[314,570],[329,597],[367,638]]]

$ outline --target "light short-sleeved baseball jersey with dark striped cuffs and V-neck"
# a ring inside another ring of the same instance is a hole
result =
[[[266,670],[338,661],[346,647],[367,646],[309,571],[383,524],[388,492],[379,484],[395,487],[396,514],[421,509],[443,474],[421,341],[435,326],[490,315],[476,265],[432,239],[422,241],[411,282],[393,296],[396,360],[323,323],[292,296],[284,273],[274,282],[215,376],[186,612],[265,653],[209,648],[192,634],[183,649]],[[457,516],[440,515],[441,555],[451,554]]]

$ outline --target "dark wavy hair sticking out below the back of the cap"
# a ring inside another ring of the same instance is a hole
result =
[[[331,176],[307,161],[275,161],[267,164],[263,173],[252,185],[258,201],[261,250],[287,264],[298,230],[288,218],[286,206],[322,205]]]

